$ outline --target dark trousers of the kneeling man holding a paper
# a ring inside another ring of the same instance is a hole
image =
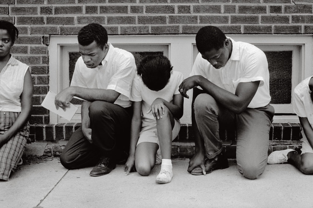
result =
[[[129,151],[131,107],[95,101],[89,106],[89,117],[93,143],[85,138],[81,127],[72,134],[60,156],[62,165],[68,169],[93,166],[100,156],[118,161]]]

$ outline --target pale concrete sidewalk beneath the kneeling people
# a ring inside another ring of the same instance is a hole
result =
[[[91,177],[92,169],[67,170],[58,158],[22,165],[0,181],[0,207],[313,207],[313,176],[289,164],[267,165],[257,180],[242,177],[235,165],[207,176],[187,172],[187,159],[173,160],[169,184],[150,176],[124,176],[119,165],[110,174]]]

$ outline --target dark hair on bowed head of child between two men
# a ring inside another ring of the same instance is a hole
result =
[[[146,56],[140,62],[137,74],[150,90],[159,91],[169,82],[172,68],[170,60],[165,56]]]

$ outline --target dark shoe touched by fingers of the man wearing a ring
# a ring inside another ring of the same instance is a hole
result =
[[[205,172],[206,174],[212,173],[214,170],[218,169],[225,169],[228,168],[228,160],[225,155],[225,151],[223,150],[220,154],[215,156],[212,159],[206,159],[205,160]],[[203,175],[202,168],[201,167],[196,167],[191,171],[192,175]]]

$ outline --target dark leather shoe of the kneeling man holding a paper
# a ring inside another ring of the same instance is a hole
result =
[[[98,164],[90,171],[90,176],[103,176],[116,167],[116,162],[109,157],[102,156]]]

